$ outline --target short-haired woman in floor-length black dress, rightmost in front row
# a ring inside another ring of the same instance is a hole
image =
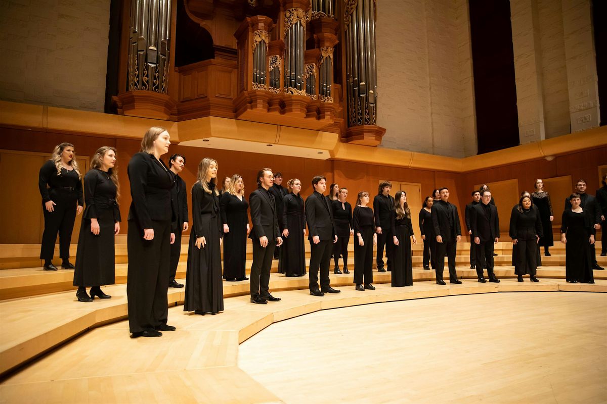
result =
[[[565,244],[565,278],[571,283],[594,283],[590,245],[594,244],[594,222],[580,203],[580,194],[569,196],[571,209],[563,211],[561,243]]]

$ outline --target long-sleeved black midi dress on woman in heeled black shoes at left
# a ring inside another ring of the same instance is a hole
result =
[[[80,226],[74,286],[101,286],[114,283],[114,225],[120,222],[116,185],[106,171],[90,170],[84,176],[86,208]],[[99,234],[90,231],[96,218]]]

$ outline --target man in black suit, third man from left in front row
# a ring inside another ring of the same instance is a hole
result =
[[[455,250],[461,240],[461,226],[457,207],[449,202],[449,188],[438,190],[441,200],[432,206],[432,224],[436,234],[436,283],[445,285],[443,270],[445,268],[445,253],[449,261],[449,283],[461,283],[455,271]]]

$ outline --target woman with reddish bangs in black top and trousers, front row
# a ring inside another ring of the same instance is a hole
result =
[[[354,225],[354,283],[356,290],[375,290],[373,283],[373,246],[378,242],[375,230],[375,216],[373,210],[368,207],[369,193],[361,191],[356,199],[356,207],[352,213],[352,224]],[[339,239],[339,237],[338,237]],[[362,282],[365,286],[362,286]]]

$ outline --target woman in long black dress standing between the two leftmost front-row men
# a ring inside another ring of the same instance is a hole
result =
[[[282,247],[280,248],[279,273],[286,276],[304,276],[305,270],[305,208],[299,195],[302,183],[294,178],[287,181],[291,193],[282,199]]]

